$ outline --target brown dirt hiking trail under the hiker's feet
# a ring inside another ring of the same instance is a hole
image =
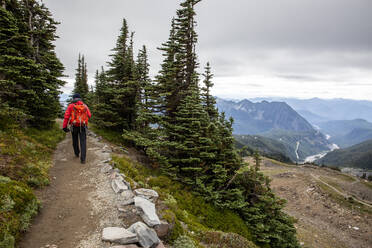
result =
[[[102,228],[123,224],[116,209],[117,196],[109,178],[100,172],[102,161],[110,157],[104,146],[88,136],[83,165],[74,157],[71,134],[59,144],[50,170],[51,185],[36,192],[41,213],[18,247],[109,247],[101,242]]]

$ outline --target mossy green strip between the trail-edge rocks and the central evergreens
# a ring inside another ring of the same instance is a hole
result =
[[[117,133],[92,129],[109,141],[121,144]],[[194,240],[196,247],[257,247],[250,241],[251,234],[244,221],[234,212],[217,209],[184,185],[161,175],[156,168],[135,163],[126,156],[114,156],[113,163],[132,184],[137,182],[141,187],[159,193],[160,215],[174,226],[168,236],[169,243],[187,235]]]

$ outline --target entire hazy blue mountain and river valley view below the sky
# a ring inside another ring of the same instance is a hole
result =
[[[371,169],[371,101],[216,100],[218,110],[234,119],[237,147],[247,147],[250,154],[257,150],[282,162],[360,168],[362,173]]]

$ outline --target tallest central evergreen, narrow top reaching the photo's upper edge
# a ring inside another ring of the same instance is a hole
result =
[[[177,10],[177,17],[172,20],[168,42],[160,50],[164,51],[164,61],[160,75],[157,77],[159,95],[161,99],[159,108],[164,112],[168,121],[174,120],[177,106],[186,97],[185,92],[190,86],[197,86],[197,56],[195,44],[197,34],[194,17],[195,5],[200,0],[185,0],[181,9]]]

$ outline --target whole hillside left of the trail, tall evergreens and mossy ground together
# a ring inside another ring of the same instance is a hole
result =
[[[63,65],[57,22],[39,1],[0,1],[0,247],[14,247],[37,213],[32,188],[49,183]]]

